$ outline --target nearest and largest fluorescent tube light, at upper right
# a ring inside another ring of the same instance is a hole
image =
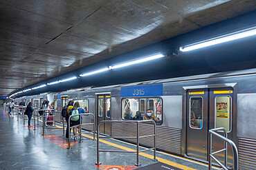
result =
[[[253,36],[256,34],[256,27],[248,28],[246,30],[241,30],[237,32],[233,32],[230,34],[226,34],[223,36],[217,36],[213,39],[208,39],[205,41],[200,41],[198,43],[192,43],[190,45],[184,45],[183,47],[179,47],[179,50],[181,52],[188,52],[191,50],[196,50],[202,47],[208,47],[210,45],[216,45],[219,43],[225,43],[228,41],[236,40],[236,39],[242,39],[247,36]]]

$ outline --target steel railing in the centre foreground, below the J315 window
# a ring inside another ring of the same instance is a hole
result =
[[[154,123],[154,135],[147,135],[147,136],[139,136],[140,133],[140,128],[139,128],[139,123],[149,123],[152,122]],[[99,129],[100,129],[100,124],[102,123],[137,123],[137,134],[136,137],[131,137],[131,136],[99,136]],[[139,138],[146,138],[146,137],[150,137],[150,136],[154,136],[154,147],[149,148],[149,149],[144,149],[142,151],[139,150],[140,147],[140,142],[139,142]],[[99,149],[99,138],[116,138],[116,139],[123,139],[123,138],[136,138],[137,141],[137,149],[136,151],[115,151],[115,150],[100,150]],[[102,120],[100,121],[100,123],[98,123],[98,127],[97,127],[97,162],[95,164],[101,164],[99,162],[100,160],[100,151],[102,152],[127,152],[127,153],[137,153],[137,162],[136,162],[136,166],[140,166],[139,161],[138,161],[138,155],[140,152],[143,151],[149,151],[149,150],[154,150],[154,161],[156,160],[156,123],[154,122],[154,120],[129,120],[129,121],[124,121],[124,120]]]

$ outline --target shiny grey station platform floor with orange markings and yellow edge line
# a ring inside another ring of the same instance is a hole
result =
[[[161,151],[156,153],[158,162],[152,161],[153,151],[140,153],[139,167],[134,165],[134,153],[101,152],[101,164],[95,165],[97,142],[92,140],[93,134],[83,134],[82,142],[71,139],[72,147],[67,149],[68,140],[62,136],[62,129],[46,129],[42,136],[42,122],[34,130],[33,127],[23,125],[22,119],[8,116],[0,108],[0,169],[208,169],[207,164]],[[136,150],[136,145],[120,140],[100,139],[100,148]]]

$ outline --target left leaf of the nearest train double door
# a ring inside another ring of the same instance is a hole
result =
[[[207,159],[208,89],[187,92],[187,155]]]

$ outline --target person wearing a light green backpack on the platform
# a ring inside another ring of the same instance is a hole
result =
[[[80,125],[80,115],[79,114],[84,114],[85,111],[84,109],[80,108],[79,102],[76,102],[74,107],[71,109],[70,111],[70,115],[72,115],[71,117],[71,127],[75,126],[75,125]],[[77,116],[73,116],[73,115],[77,115]],[[76,135],[76,127],[73,127],[73,134],[74,136]],[[81,127],[78,126],[78,133],[81,133]],[[76,140],[76,137],[74,138],[74,140]]]

